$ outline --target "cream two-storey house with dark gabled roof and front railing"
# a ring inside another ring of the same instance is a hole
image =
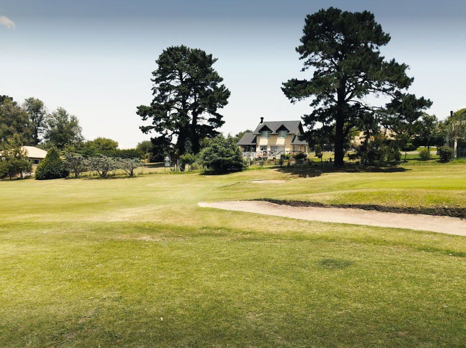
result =
[[[307,142],[299,140],[303,132],[301,121],[264,121],[261,117],[256,129],[244,133],[237,145],[246,158],[307,153]]]

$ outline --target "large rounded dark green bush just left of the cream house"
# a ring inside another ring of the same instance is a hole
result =
[[[241,171],[244,160],[232,136],[219,134],[201,152],[205,166],[214,172]]]

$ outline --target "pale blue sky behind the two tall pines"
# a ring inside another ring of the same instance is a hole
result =
[[[131,148],[150,138],[136,107],[152,100],[155,60],[186,45],[218,58],[231,91],[224,134],[254,129],[261,116],[297,120],[310,100],[291,104],[281,86],[311,77],[295,47],[306,14],[330,6],[374,13],[391,36],[382,54],[409,65],[408,91],[433,102],[429,114],[466,107],[464,0],[0,0],[0,95],[62,107],[86,139]]]

